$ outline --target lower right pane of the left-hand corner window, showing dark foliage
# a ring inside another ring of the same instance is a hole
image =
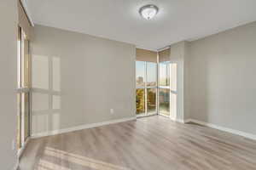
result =
[[[156,112],[156,88],[147,89],[148,114]]]

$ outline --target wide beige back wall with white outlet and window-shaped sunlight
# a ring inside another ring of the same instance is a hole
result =
[[[35,26],[32,133],[135,116],[135,52],[124,42]]]

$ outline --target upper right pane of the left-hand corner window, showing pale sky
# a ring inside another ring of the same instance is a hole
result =
[[[156,86],[157,64],[147,62],[147,86]]]

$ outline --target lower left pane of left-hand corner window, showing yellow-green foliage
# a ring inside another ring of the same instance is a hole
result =
[[[145,90],[139,88],[136,90],[136,108],[137,115],[145,113]]]

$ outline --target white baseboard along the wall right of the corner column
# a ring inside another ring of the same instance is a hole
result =
[[[247,138],[247,139],[256,140],[256,135],[255,135],[255,134],[241,132],[241,131],[239,131],[239,130],[235,130],[235,129],[228,128],[228,127],[221,127],[221,126],[218,126],[218,125],[209,123],[209,122],[201,122],[201,121],[198,121],[198,120],[195,120],[195,119],[187,119],[187,120],[185,120],[184,122],[185,122],[185,123],[188,123],[188,122],[195,122],[195,123],[197,123],[197,124],[200,124],[200,125],[203,125],[203,126],[206,126],[206,127],[212,127],[212,128],[215,128],[215,129],[224,131],[224,132],[228,132],[228,133],[233,133],[233,134],[236,134],[236,135],[240,135],[240,136],[245,137],[245,138]]]

